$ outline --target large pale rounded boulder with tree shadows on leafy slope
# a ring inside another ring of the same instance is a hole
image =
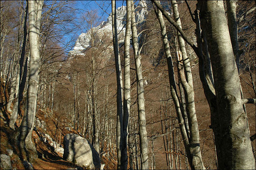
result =
[[[89,169],[100,169],[101,159],[87,139],[79,135],[67,134],[64,137],[63,159]]]

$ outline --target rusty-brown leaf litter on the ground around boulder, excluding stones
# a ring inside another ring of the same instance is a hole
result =
[[[6,87],[6,93],[3,93],[5,83],[3,83],[1,79],[1,85],[0,85],[0,91],[1,91],[1,116],[0,116],[0,154],[7,154],[7,149],[10,149],[13,151],[13,154],[10,156],[11,158],[11,164],[13,169],[16,170],[23,170],[25,169],[21,157],[19,154],[19,149],[16,144],[13,144],[13,142],[10,139],[11,133],[13,133],[14,130],[12,130],[8,126],[9,118],[11,115],[11,112],[6,110],[6,105],[5,103],[6,99],[8,101],[9,99],[9,93],[7,91],[8,86]],[[11,106],[12,109],[12,106]],[[20,125],[21,123],[21,118],[24,114],[24,110],[21,109],[21,115],[18,115],[18,119],[16,121],[16,128],[18,127],[17,125]],[[78,166],[73,164],[72,162],[64,161],[63,160],[63,155],[62,153],[57,153],[55,152],[54,148],[49,144],[45,143],[40,140],[40,136],[42,134],[48,134],[52,138],[55,138],[54,135],[56,136],[55,129],[56,125],[58,124],[57,119],[54,117],[48,118],[45,116],[47,115],[47,112],[41,109],[38,109],[36,118],[39,120],[44,120],[46,122],[46,131],[41,128],[37,128],[37,131],[33,130],[32,133],[32,142],[35,144],[36,149],[37,149],[37,154],[38,158],[35,159],[32,163],[34,169],[36,170],[66,170],[66,169],[79,169]],[[74,129],[66,130],[63,129],[61,133],[61,144],[63,143],[63,138],[66,134],[68,133],[73,133],[73,134],[78,134],[78,132]],[[55,139],[56,142],[59,141],[59,139]],[[63,144],[62,144],[63,145]],[[102,161],[101,163],[105,164],[104,169],[114,169],[116,161],[115,160],[110,160],[106,158],[105,156],[102,156]]]

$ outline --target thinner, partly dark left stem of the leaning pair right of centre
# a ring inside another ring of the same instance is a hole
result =
[[[190,155],[189,139],[188,139],[188,134],[186,133],[185,122],[184,122],[182,112],[181,112],[181,104],[180,104],[181,102],[179,101],[178,94],[177,94],[176,83],[175,83],[175,78],[174,78],[174,66],[173,66],[170,46],[169,46],[169,42],[168,42],[168,38],[167,38],[165,21],[164,21],[162,12],[159,9],[157,10],[157,12],[155,11],[155,13],[156,13],[156,17],[159,21],[162,39],[164,42],[165,55],[166,55],[167,67],[168,67],[170,91],[171,91],[171,95],[172,95],[172,98],[174,101],[176,114],[178,116],[180,131],[181,131],[182,138],[183,138],[183,144],[184,144],[185,151],[186,151],[187,155]],[[188,160],[189,160],[190,165],[192,166],[192,159],[190,156],[188,156]]]

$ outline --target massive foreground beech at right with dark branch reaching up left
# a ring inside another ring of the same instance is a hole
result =
[[[179,31],[199,58],[200,78],[210,106],[210,127],[215,136],[218,168],[255,168],[247,127],[247,115],[242,106],[244,103],[255,103],[255,99],[241,98],[238,68],[230,41],[223,2],[198,2],[195,18],[192,17],[197,26],[198,46],[188,39],[183,30],[175,24],[159,3],[154,1],[154,4]],[[210,81],[210,67],[213,70],[214,83]],[[218,85],[216,85],[217,82]],[[240,140],[244,142],[238,142]],[[219,162],[219,160],[221,161]]]

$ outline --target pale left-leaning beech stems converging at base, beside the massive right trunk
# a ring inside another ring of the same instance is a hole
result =
[[[156,3],[160,4],[159,1],[155,1]],[[172,6],[174,8],[174,17],[177,22],[177,25],[181,28],[181,21],[177,9],[177,3],[176,1],[172,0]],[[185,49],[185,43],[182,38],[182,36],[178,33],[178,42],[181,49],[181,53],[178,53],[177,56],[178,60],[180,60],[181,63],[179,63],[178,67],[178,73],[179,73],[179,79],[181,80],[181,84],[184,89],[185,93],[185,101],[186,101],[186,113],[189,116],[189,129],[186,128],[187,123],[185,122],[185,110],[182,110],[180,106],[182,106],[181,101],[178,98],[178,93],[176,89],[176,83],[174,78],[174,66],[171,56],[170,47],[168,44],[167,39],[167,32],[165,28],[165,21],[162,16],[162,12],[160,9],[155,11],[156,16],[159,20],[162,38],[165,46],[165,54],[167,59],[167,66],[168,66],[168,73],[169,73],[169,82],[171,87],[171,94],[172,98],[175,104],[176,113],[179,119],[180,123],[180,130],[183,137],[183,143],[185,146],[186,153],[188,155],[188,160],[190,162],[190,166],[192,169],[204,169],[202,158],[201,158],[201,151],[199,146],[199,130],[198,130],[198,124],[197,119],[195,115],[195,105],[194,105],[194,91],[193,91],[193,83],[192,83],[192,74],[191,74],[191,68],[190,68],[190,59],[187,56],[186,49]],[[190,132],[190,133],[189,133]]]

